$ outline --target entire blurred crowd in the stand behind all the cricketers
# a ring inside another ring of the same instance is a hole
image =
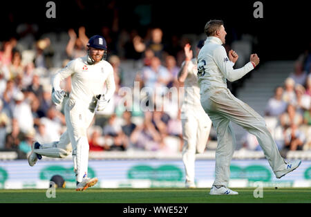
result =
[[[21,24],[18,37],[0,42],[0,150],[17,151],[19,158],[26,158],[34,140],[54,142],[66,130],[63,106],[51,101],[50,79],[68,61],[87,54],[84,26],[39,39],[34,37],[36,30],[35,25]],[[185,44],[196,45],[202,37],[173,35],[164,41],[160,28],[148,28],[144,35],[137,30],[115,35],[106,26],[100,34],[108,44],[107,61],[113,66],[117,88],[109,106],[95,114],[88,130],[90,151],[180,152],[183,84],[178,83],[177,75],[185,59]],[[130,81],[128,69],[121,64],[126,60],[138,69]],[[133,95],[136,84],[138,99]],[[70,92],[70,78],[61,86]],[[126,88],[131,94],[125,93]],[[311,132],[306,127],[311,126],[310,97],[310,53],[306,53],[267,105],[267,124],[275,135],[278,132],[274,131],[281,131],[275,137],[280,147],[310,149]],[[213,133],[210,139],[216,140]]]

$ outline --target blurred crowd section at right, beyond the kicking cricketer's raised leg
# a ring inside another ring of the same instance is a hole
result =
[[[285,79],[276,86],[265,108],[265,121],[280,151],[311,150],[311,54],[302,53]],[[256,137],[247,133],[243,146],[261,150]]]

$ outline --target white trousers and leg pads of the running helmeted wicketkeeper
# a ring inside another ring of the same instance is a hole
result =
[[[65,104],[66,131],[61,135],[59,142],[42,144],[35,153],[51,158],[65,158],[72,151],[73,165],[77,182],[82,182],[88,172],[88,139],[87,129],[94,117],[84,102],[75,102],[69,99]]]

